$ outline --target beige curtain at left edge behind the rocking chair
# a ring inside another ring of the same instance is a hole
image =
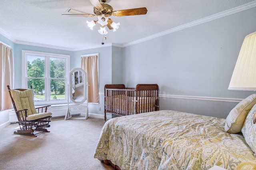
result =
[[[3,111],[12,108],[12,101],[7,85],[11,89],[14,87],[14,63],[12,49],[2,43],[0,43],[0,65],[2,66],[2,70],[0,71],[0,111]]]

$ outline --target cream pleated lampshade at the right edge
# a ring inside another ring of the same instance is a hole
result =
[[[256,32],[244,38],[229,90],[256,90]]]

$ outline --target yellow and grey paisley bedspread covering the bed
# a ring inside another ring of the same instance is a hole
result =
[[[256,169],[242,134],[224,132],[225,119],[154,111],[108,120],[94,158],[123,170]]]

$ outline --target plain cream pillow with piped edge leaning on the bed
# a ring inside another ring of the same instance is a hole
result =
[[[256,94],[252,94],[238,103],[226,118],[225,131],[229,133],[241,132],[244,120],[255,104]]]

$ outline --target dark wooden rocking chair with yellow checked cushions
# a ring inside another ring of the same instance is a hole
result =
[[[10,89],[7,85],[12,104],[18,118],[20,130],[14,131],[14,134],[22,134],[34,136],[42,132],[50,132],[46,127],[50,127],[50,117],[52,112],[47,112],[48,106],[35,108],[34,106],[34,91],[31,89]],[[43,112],[44,110],[44,112]],[[34,131],[39,131],[34,134]]]

